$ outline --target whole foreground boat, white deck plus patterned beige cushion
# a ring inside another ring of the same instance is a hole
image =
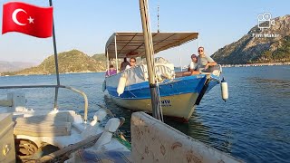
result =
[[[1,101],[12,106],[0,107],[0,162],[241,162],[144,112],[131,116],[130,144],[119,136],[123,120],[106,110],[85,123],[73,110],[28,110],[23,98]]]

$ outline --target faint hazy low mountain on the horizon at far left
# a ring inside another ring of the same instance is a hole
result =
[[[0,61],[0,72],[14,72],[25,68],[33,67],[33,62],[4,62]]]

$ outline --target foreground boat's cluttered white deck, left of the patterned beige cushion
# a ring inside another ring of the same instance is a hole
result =
[[[5,106],[0,107],[4,152],[0,162],[14,162],[15,156],[21,162],[63,162],[79,149],[131,151],[119,132],[124,120],[110,117],[106,110],[96,111],[92,122],[87,123],[73,110],[28,110],[23,93],[7,97],[0,102]]]

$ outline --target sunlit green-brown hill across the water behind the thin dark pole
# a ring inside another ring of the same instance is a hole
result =
[[[104,55],[102,54],[104,58]],[[106,63],[103,62],[101,55],[95,55],[96,59],[82,53],[78,50],[58,53],[59,72],[102,72],[106,70]],[[19,72],[10,72],[9,74],[47,74],[55,73],[54,55],[46,58],[38,66],[24,69]]]

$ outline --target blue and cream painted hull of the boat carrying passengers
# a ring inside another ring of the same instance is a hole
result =
[[[128,84],[131,80],[127,81],[124,91],[119,94],[117,87],[120,77],[121,74],[116,74],[106,78],[106,89],[111,95],[112,101],[130,110],[151,112],[149,82]],[[201,95],[200,92],[208,79],[211,79],[211,77],[200,74],[161,82],[159,84],[159,92],[163,115],[173,117],[179,121],[188,121],[195,110],[198,96]],[[210,81],[208,90],[216,84],[218,82]],[[199,99],[201,98],[199,97]]]

